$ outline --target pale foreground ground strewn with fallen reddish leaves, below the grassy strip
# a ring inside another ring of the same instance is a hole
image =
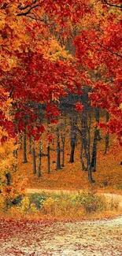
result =
[[[0,256],[121,256],[122,217],[97,221],[0,220]]]

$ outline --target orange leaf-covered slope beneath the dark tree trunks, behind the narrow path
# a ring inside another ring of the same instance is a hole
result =
[[[87,177],[87,172],[82,171],[79,161],[79,145],[75,152],[75,162],[69,163],[70,148],[65,150],[65,166],[56,170],[56,153],[51,151],[50,173],[47,173],[46,158],[42,158],[42,176],[33,174],[32,156],[28,154],[28,162],[23,163],[23,151],[18,152],[17,175],[27,180],[25,187],[55,190],[89,190],[103,191],[106,193],[122,194],[122,165],[120,165],[121,147],[118,143],[113,143],[108,153],[104,154],[102,144],[98,151],[97,170],[92,173],[95,184],[91,184]],[[38,168],[38,154],[36,164]],[[84,159],[85,161],[85,159]]]

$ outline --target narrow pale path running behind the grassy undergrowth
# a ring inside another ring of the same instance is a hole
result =
[[[55,193],[57,195],[64,193],[64,194],[70,194],[70,193],[76,193],[79,190],[58,190],[58,189],[45,189],[45,188],[26,188],[25,192],[27,194],[34,194],[34,193],[42,193],[42,192],[50,192]],[[118,205],[122,208],[122,195],[112,194],[112,193],[105,193],[104,191],[100,191],[96,193],[99,196],[103,196],[107,202],[113,201],[118,202]]]

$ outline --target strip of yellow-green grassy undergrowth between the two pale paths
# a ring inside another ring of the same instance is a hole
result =
[[[118,202],[106,202],[104,197],[95,195],[91,191],[79,191],[73,194],[55,194],[43,191],[24,195],[18,198],[16,206],[9,202],[7,208],[1,212],[4,217],[14,218],[51,218],[51,219],[94,219],[114,217],[120,215]]]

